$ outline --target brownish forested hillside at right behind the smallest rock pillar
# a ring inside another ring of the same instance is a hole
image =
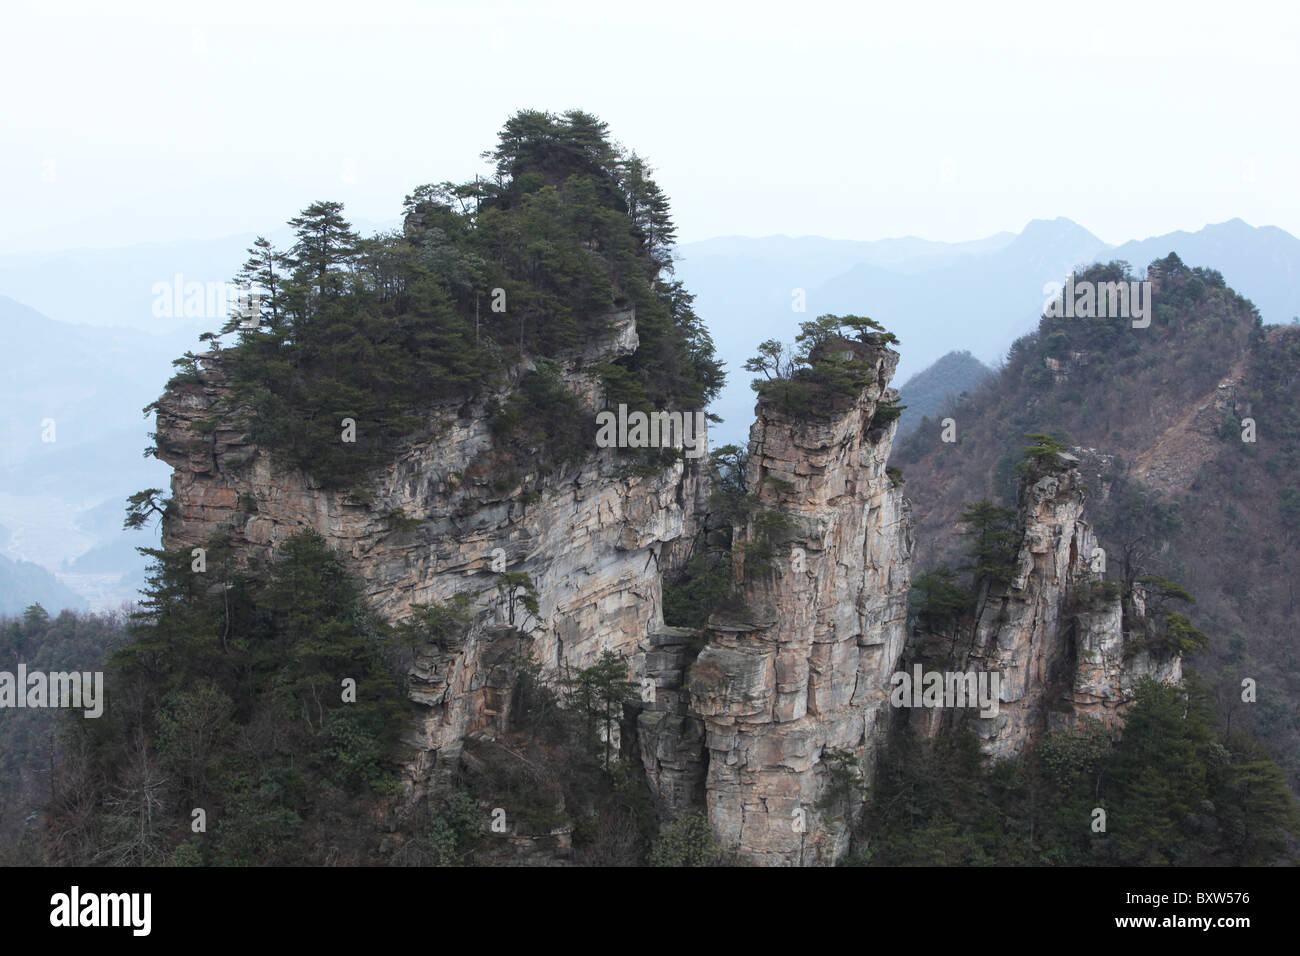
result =
[[[1180,583],[1209,635],[1190,658],[1221,723],[1266,741],[1300,784],[1300,683],[1292,635],[1300,566],[1300,329],[1264,326],[1212,271],[1170,255],[1149,328],[1128,319],[1044,317],[1001,373],[950,412],[922,421],[893,464],[918,519],[918,570],[959,563],[962,509],[1009,503],[1030,433],[1072,447],[1110,574]],[[1117,281],[1124,264],[1079,278]],[[1242,701],[1242,680],[1257,701]]]

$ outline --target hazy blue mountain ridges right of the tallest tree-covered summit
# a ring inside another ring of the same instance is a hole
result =
[[[1071,269],[1122,259],[1141,274],[1169,252],[1222,272],[1266,323],[1300,315],[1300,239],[1239,219],[1121,246],[1067,219],[958,243],[784,235],[684,243],[677,276],[696,294],[696,311],[731,373],[712,408],[724,424],[714,427],[711,444],[745,441],[754,401],[751,376],[741,365],[767,338],[792,341],[801,320],[824,312],[876,319],[902,342],[896,381],[906,381],[952,351],[997,363],[1037,324],[1044,285],[1061,282]],[[794,311],[798,290],[803,312]]]

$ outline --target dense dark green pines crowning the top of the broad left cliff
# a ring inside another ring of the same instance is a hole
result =
[[[239,273],[260,295],[257,324],[233,316],[220,334],[235,342],[178,359],[170,385],[200,381],[200,359],[222,365],[234,389],[220,416],[343,486],[424,427],[430,403],[463,403],[533,360],[495,434],[556,467],[589,416],[545,360],[633,307],[640,347],[603,368],[607,397],[703,408],[723,371],[692,295],[664,274],[675,229],[646,161],[580,111],[517,113],[491,156],[494,179],[413,190],[399,232],[361,238],[339,203],[316,202],[290,221],[287,251],[259,237]],[[355,442],[342,441],[346,418]]]

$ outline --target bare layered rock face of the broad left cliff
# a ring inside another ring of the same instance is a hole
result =
[[[588,363],[637,345],[630,312],[612,316],[611,326],[608,341],[564,369],[578,395],[598,390],[582,371]],[[614,450],[595,449],[593,415],[593,450],[581,463],[497,486],[485,397],[464,407],[434,405],[428,432],[364,488],[321,489],[239,431],[203,433],[198,423],[229,388],[220,352],[204,356],[203,367],[199,382],[178,385],[159,406],[159,458],[174,470],[164,548],[203,546],[224,533],[240,553],[264,558],[294,532],[315,528],[351,557],[370,605],[391,620],[415,602],[474,596],[468,633],[420,649],[411,669],[420,705],[406,739],[412,795],[454,763],[468,734],[504,726],[521,653],[555,678],[608,649],[641,683],[653,650],[647,635],[663,628],[662,564],[671,570],[702,510],[696,463],[677,459],[650,475],[629,468]],[[503,570],[530,575],[536,617],[519,604],[512,614],[498,589]]]

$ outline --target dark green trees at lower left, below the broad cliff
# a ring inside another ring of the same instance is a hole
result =
[[[178,840],[203,806],[204,862],[324,862],[317,829],[367,818],[395,784],[407,702],[387,628],[316,532],[287,538],[264,568],[237,567],[216,540],[203,574],[187,551],[146,553],[150,587],[105,669],[108,708],[69,722],[79,743],[49,808],[56,857],[192,861]],[[348,826],[330,843],[359,862],[374,840]]]

